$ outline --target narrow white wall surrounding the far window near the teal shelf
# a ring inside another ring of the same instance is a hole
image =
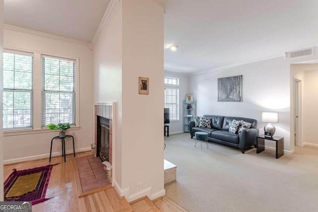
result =
[[[172,71],[164,71],[165,77],[179,79],[179,121],[171,121],[169,125],[169,134],[183,133],[183,100],[185,94],[192,93],[189,89],[189,75]],[[196,99],[196,97],[194,96]]]

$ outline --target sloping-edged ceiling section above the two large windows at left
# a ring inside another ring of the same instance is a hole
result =
[[[4,23],[90,42],[110,0],[4,0]]]

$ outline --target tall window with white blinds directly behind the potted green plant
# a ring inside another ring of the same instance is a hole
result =
[[[75,61],[42,56],[42,127],[75,125]]]

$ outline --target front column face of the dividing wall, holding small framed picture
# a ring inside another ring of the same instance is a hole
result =
[[[128,201],[163,189],[163,7],[149,0],[123,3],[122,185]],[[149,77],[149,95],[138,78]],[[137,184],[142,184],[137,188]]]

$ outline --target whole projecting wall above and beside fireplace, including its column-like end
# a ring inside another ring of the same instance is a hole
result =
[[[94,47],[94,101],[118,102],[114,184],[129,202],[165,193],[162,47],[163,8],[149,0],[117,3]],[[149,95],[138,94],[139,76]]]

